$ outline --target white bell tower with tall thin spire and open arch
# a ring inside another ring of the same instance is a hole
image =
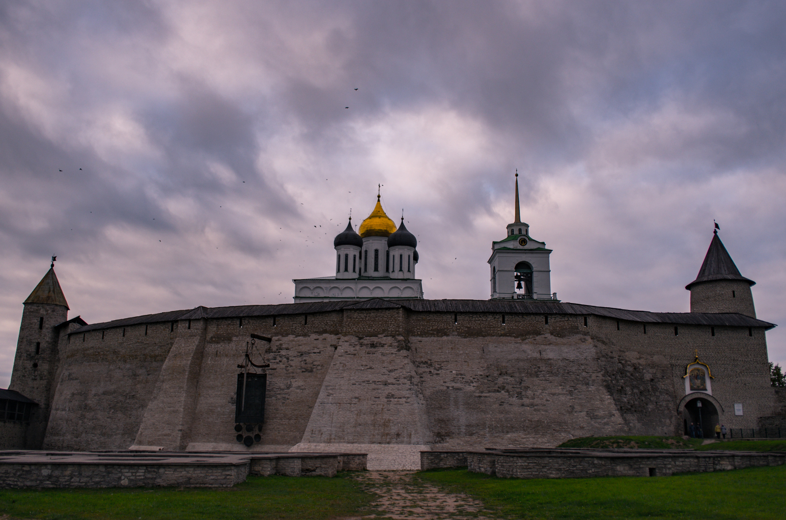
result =
[[[521,222],[518,172],[515,213],[505,234],[505,239],[491,243],[491,298],[558,302],[556,292],[551,292],[551,250],[546,249],[545,242],[534,240],[530,226]]]

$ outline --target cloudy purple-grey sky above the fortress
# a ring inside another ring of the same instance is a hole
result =
[[[377,184],[426,298],[522,218],[567,302],[689,310],[712,221],[786,364],[784,2],[0,2],[0,387],[69,317],[292,302]]]

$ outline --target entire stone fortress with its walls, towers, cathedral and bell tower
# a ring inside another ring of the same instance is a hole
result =
[[[369,469],[417,469],[432,449],[786,427],[775,325],[717,229],[690,312],[654,313],[561,302],[517,181],[513,214],[487,300],[424,299],[417,238],[379,195],[333,241],[335,274],[293,280],[293,303],[88,324],[52,265],[24,300],[0,448],[366,452]]]

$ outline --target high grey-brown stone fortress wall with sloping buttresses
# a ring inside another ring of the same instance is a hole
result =
[[[272,342],[261,345],[270,364],[263,441],[250,450],[682,434],[682,376],[696,350],[714,375],[712,396],[700,397],[727,427],[777,413],[771,324],[760,320],[685,313],[653,323],[549,302],[527,312],[515,301],[420,302],[197,308],[62,328],[42,446],[246,450],[233,427],[237,364],[252,332]]]

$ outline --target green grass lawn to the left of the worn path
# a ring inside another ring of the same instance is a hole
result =
[[[345,475],[344,475],[345,476]],[[122,519],[336,518],[358,515],[372,495],[349,478],[255,477],[228,489],[2,489],[0,516]]]

